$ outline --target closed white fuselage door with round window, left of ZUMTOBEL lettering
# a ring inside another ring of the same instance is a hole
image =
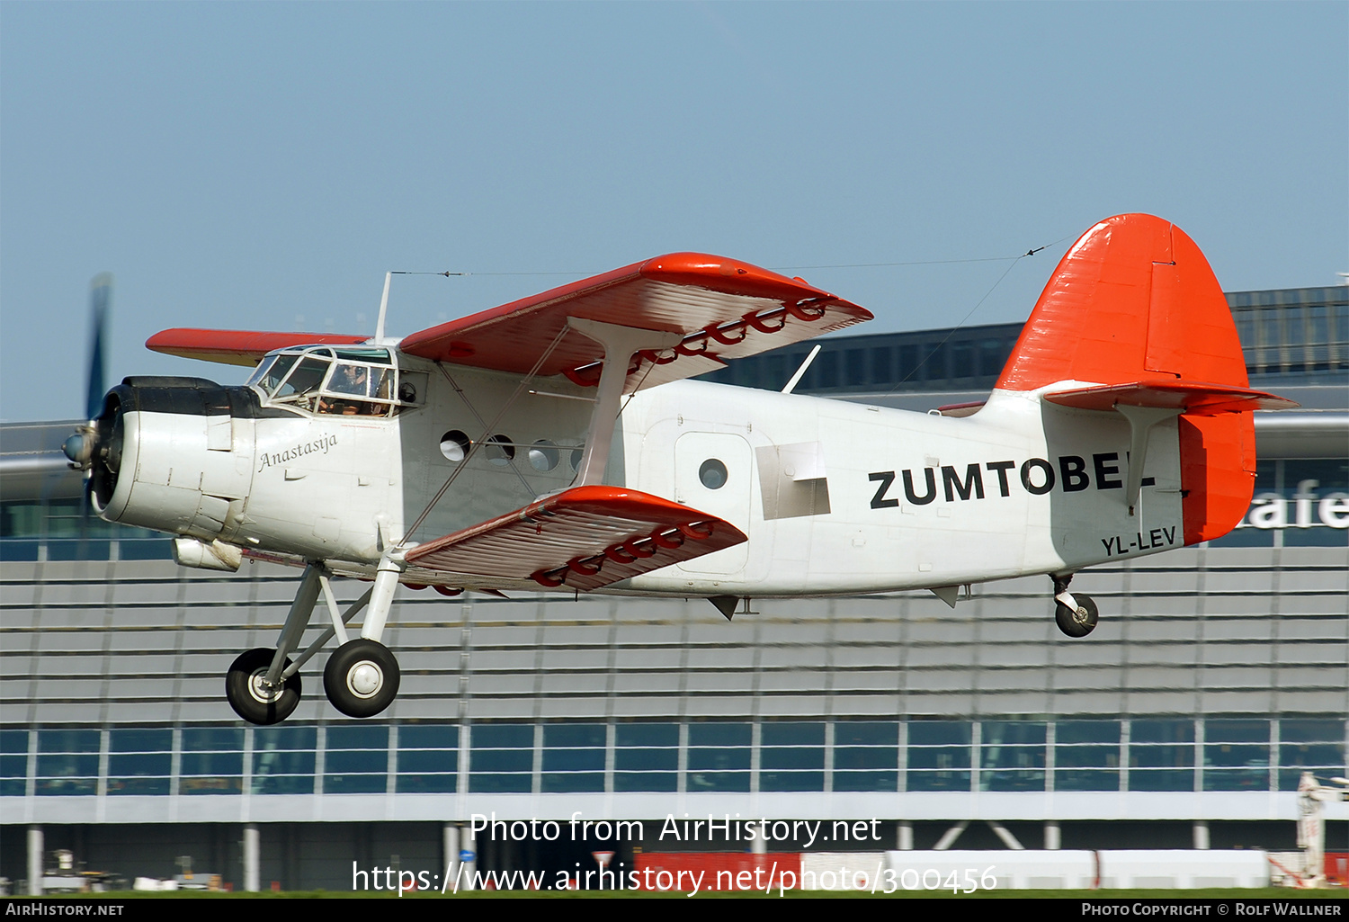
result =
[[[719,516],[750,535],[750,444],[742,436],[685,432],[674,443],[674,501]],[[749,548],[749,541],[737,544],[687,560],[679,568],[734,576],[745,571]]]

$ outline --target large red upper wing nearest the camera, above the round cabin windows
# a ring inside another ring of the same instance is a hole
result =
[[[631,391],[842,329],[871,313],[799,278],[723,256],[674,252],[424,329],[403,337],[399,348],[526,374],[561,333],[538,374],[596,383],[604,350],[575,329],[563,333],[568,317],[683,335],[673,350],[634,356],[625,386]]]

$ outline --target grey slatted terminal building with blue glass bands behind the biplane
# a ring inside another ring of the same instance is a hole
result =
[[[770,852],[1290,850],[1300,775],[1349,774],[1349,289],[1228,301],[1252,385],[1302,409],[1256,414],[1234,532],[1078,575],[1101,606],[1087,639],[1059,633],[1044,578],[975,585],[954,610],[916,591],[753,601],[733,621],[701,598],[401,587],[402,690],[367,721],[313,667],[283,725],[239,721],[224,674],[274,645],[298,571],[178,567],[165,536],[84,514],[59,451],[74,423],[5,424],[0,875],[28,890],[69,849],[125,879],[190,856],[235,888],[351,890],[353,868],[460,857],[552,873],[595,850],[746,850],[737,819],[867,821]],[[797,391],[978,401],[1018,332],[819,340]],[[781,389],[809,348],[714,379]],[[710,817],[711,838],[680,834]]]

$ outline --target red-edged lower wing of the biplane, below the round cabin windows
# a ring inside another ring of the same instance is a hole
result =
[[[579,486],[420,544],[406,560],[467,579],[533,579],[590,591],[746,540],[730,522],[669,499]]]

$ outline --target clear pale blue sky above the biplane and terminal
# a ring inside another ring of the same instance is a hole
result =
[[[8,0],[0,418],[82,412],[100,271],[109,383],[237,382],[143,343],[372,332],[386,270],[476,273],[395,279],[402,335],[673,250],[874,332],[990,289],[969,323],[1001,323],[1126,211],[1228,290],[1336,283],[1349,4]],[[1045,244],[996,286],[1008,262],[950,262]]]

